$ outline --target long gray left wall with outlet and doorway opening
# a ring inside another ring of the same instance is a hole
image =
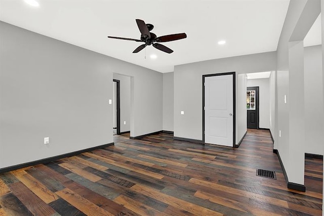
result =
[[[112,73],[133,76],[133,135],[162,130],[162,74],[4,22],[0,39],[0,168],[113,142]]]

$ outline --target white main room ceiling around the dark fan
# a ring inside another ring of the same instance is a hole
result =
[[[0,0],[0,20],[79,47],[162,73],[174,65],[275,51],[289,0],[108,1]],[[140,38],[135,19],[155,27],[157,36],[187,33],[187,39],[163,43],[167,54],[141,43],[107,36]],[[225,45],[217,42],[225,40]],[[155,54],[156,59],[149,56]]]

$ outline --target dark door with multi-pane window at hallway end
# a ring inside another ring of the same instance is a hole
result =
[[[259,129],[259,87],[247,89],[248,128]]]

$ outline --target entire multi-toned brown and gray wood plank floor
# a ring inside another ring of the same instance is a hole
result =
[[[0,215],[321,215],[322,161],[287,189],[267,130],[238,149],[160,133],[0,175]],[[273,170],[277,179],[256,176]]]

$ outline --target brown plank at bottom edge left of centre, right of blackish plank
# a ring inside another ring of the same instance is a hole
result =
[[[80,211],[84,212],[90,216],[97,216],[97,215],[107,215],[113,216],[112,213],[100,208],[98,205],[90,202],[89,200],[83,198],[82,196],[74,193],[70,189],[63,189],[61,191],[57,191],[56,194],[62,197],[65,201],[70,203],[71,205],[75,206]]]

